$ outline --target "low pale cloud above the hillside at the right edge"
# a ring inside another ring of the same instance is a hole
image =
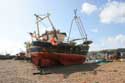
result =
[[[125,35],[119,34],[114,37],[107,37],[97,43],[93,43],[90,47],[91,51],[103,49],[125,48]]]

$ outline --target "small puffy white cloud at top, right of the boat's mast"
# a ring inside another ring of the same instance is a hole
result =
[[[87,2],[82,4],[81,11],[86,13],[87,15],[93,13],[95,10],[97,10],[97,7],[93,4]]]

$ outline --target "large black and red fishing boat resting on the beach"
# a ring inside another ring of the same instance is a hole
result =
[[[81,18],[76,15],[76,10],[74,13],[68,36],[65,32],[61,32],[54,27],[50,14],[45,16],[34,14],[36,17],[37,33],[30,33],[31,37],[35,40],[32,39],[31,45],[28,48],[33,64],[40,67],[50,67],[55,65],[83,64],[85,62],[89,45],[92,41],[87,39]],[[39,22],[45,19],[51,24],[52,30],[46,30],[40,34]],[[73,23],[78,25],[81,38],[71,40],[70,35]],[[67,38],[67,41],[65,41],[65,38]],[[82,42],[77,44],[77,40]]]

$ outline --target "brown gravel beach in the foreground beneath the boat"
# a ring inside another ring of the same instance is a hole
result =
[[[0,83],[125,83],[125,62],[58,66],[44,72],[49,74],[40,75],[30,62],[0,60]]]

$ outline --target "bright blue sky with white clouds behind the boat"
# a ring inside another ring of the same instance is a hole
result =
[[[125,0],[0,0],[0,53],[24,50],[28,32],[36,30],[35,13],[51,13],[54,25],[68,32],[75,8],[93,40],[90,50],[125,47]]]

